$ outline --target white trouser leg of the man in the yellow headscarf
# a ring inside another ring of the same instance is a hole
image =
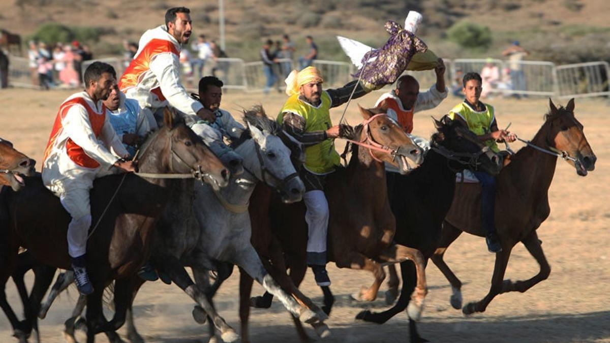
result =
[[[328,233],[328,201],[322,190],[310,190],[304,193],[303,201],[307,212],[308,253],[326,253],[326,234]]]

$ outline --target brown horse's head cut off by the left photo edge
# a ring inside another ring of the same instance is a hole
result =
[[[34,175],[35,164],[36,161],[15,150],[11,142],[0,139],[0,185],[20,190],[25,186],[23,176]]]

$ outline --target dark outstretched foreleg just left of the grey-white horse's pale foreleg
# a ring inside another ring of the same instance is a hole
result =
[[[168,273],[171,281],[174,281],[182,291],[188,294],[189,297],[195,300],[206,311],[207,315],[213,319],[215,327],[220,330],[221,338],[224,342],[237,341],[239,336],[237,336],[235,330],[222,317],[218,316],[206,295],[199,291],[199,288],[193,283],[193,280],[188,276],[187,271],[182,267],[182,263],[178,259],[172,256],[163,256],[162,258],[155,259],[154,265],[159,266],[160,269]]]

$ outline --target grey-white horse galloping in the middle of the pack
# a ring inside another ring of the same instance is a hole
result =
[[[282,290],[278,283],[268,275],[259,255],[250,243],[251,224],[248,202],[257,182],[263,181],[278,190],[282,195],[282,200],[286,203],[300,201],[305,191],[303,182],[298,178],[290,160],[290,150],[278,137],[281,132],[280,126],[267,117],[258,117],[257,111],[262,112],[262,109],[254,109],[245,114],[251,139],[244,140],[234,148],[235,152],[243,156],[245,172],[239,176],[232,176],[229,186],[218,191],[204,184],[196,184],[193,202],[196,221],[186,220],[184,222],[198,225],[198,241],[192,250],[181,256],[180,261],[182,265],[192,267],[196,285],[208,297],[212,297],[221,282],[228,278],[233,265],[238,265],[254,280],[262,284],[268,292],[278,297],[293,316],[310,323],[320,336],[325,336],[329,332],[328,327],[323,323],[323,320],[327,318],[326,314],[319,308],[314,308],[314,312],[300,305],[292,295]],[[175,225],[180,226],[184,222]],[[174,223],[164,223],[161,226],[166,226],[167,229],[162,229],[162,231],[168,233],[175,234],[176,231],[185,231],[180,228],[171,228]],[[192,232],[193,228],[186,231]],[[152,255],[175,254],[176,245],[171,242],[172,240],[174,239],[157,239]],[[154,261],[154,264],[159,267],[157,261]],[[217,280],[211,287],[208,280],[209,270],[218,271]],[[66,281],[63,284],[65,285],[65,283]],[[57,289],[52,292],[52,294],[56,293]],[[49,300],[43,309],[48,309],[48,306],[50,306]],[[75,309],[74,313],[76,312],[80,312],[79,308]],[[131,314],[130,306],[126,320],[127,332],[132,341],[140,341],[141,337],[135,330]],[[196,306],[193,310],[193,317],[199,323],[203,323],[206,320],[206,312]],[[215,329],[211,321],[210,329]],[[217,341],[213,332],[210,333],[212,336],[210,342]],[[227,337],[221,338],[224,341],[227,340]]]

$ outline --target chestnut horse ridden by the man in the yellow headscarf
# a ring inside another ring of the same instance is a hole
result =
[[[367,125],[356,128],[356,142],[364,142],[367,137],[394,151],[371,150],[370,145],[353,145],[350,163],[328,176],[326,197],[330,209],[328,225],[328,259],[339,268],[368,270],[374,275],[383,273],[382,265],[410,259],[417,266],[417,287],[409,311],[414,318],[419,316],[426,293],[426,279],[423,257],[420,251],[392,243],[395,218],[390,209],[386,192],[386,161],[396,164],[400,157],[401,167],[405,167],[406,157],[421,162],[422,151],[404,134],[404,131],[386,115],[375,115],[371,110],[361,109]],[[374,145],[374,144],[373,144]],[[406,152],[405,153],[403,153]],[[399,154],[400,156],[396,156]],[[310,308],[311,301],[296,290],[306,272],[307,223],[303,203],[281,204],[265,189],[255,190],[250,201],[250,216],[253,225],[252,242],[278,283],[287,291],[299,297]],[[350,215],[345,215],[345,214]],[[285,258],[285,260],[284,260]],[[290,267],[290,277],[286,267]],[[292,278],[292,280],[291,280]],[[379,280],[379,277],[376,277]],[[295,286],[296,285],[296,286]],[[241,273],[240,318],[242,333],[247,328],[249,295],[252,279]],[[371,289],[378,289],[373,284]],[[326,312],[329,312],[332,294],[325,291]],[[270,294],[256,298],[253,305],[268,307]],[[307,339],[298,319],[293,318],[301,339]],[[243,339],[243,336],[242,336]]]

